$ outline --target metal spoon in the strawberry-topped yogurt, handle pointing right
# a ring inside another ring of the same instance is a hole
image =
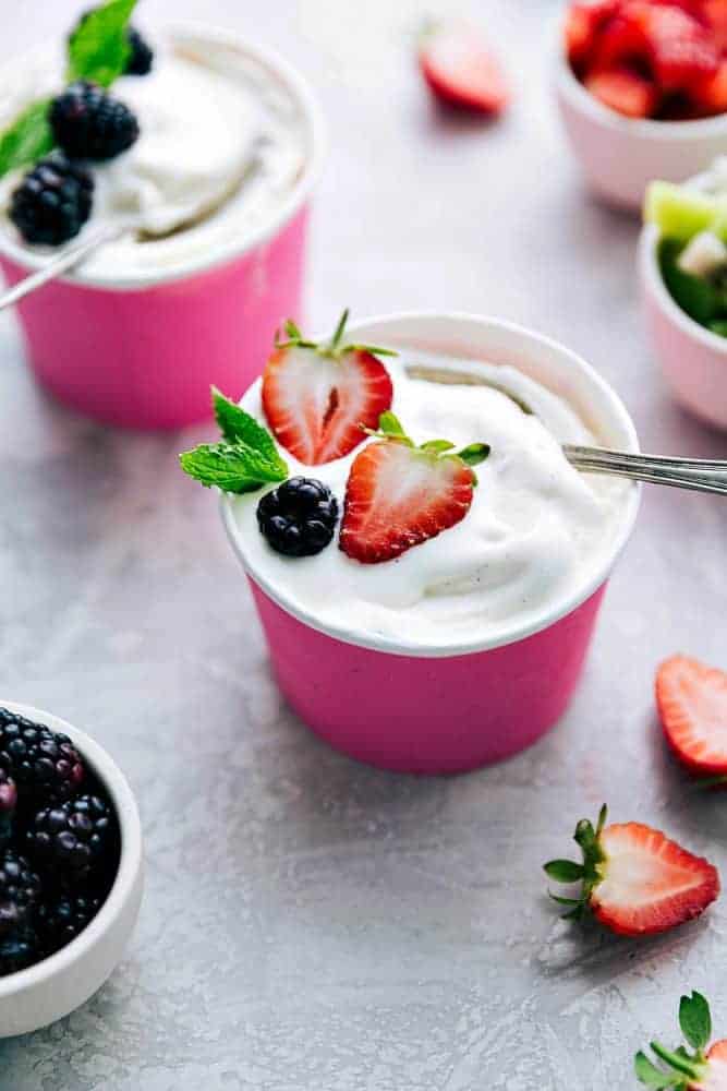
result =
[[[473,372],[447,371],[417,364],[407,368],[407,373],[414,379],[445,385],[464,383],[468,386],[490,386],[514,401],[523,412],[534,416],[533,409],[522,398],[511,394],[499,383],[492,383]],[[571,443],[564,444],[562,453],[571,466],[584,473],[607,473],[611,477],[630,478],[632,481],[668,484],[677,489],[691,489],[694,492],[712,492],[727,496],[727,461],[724,460],[642,455],[627,451],[610,451],[607,447],[583,447]]]

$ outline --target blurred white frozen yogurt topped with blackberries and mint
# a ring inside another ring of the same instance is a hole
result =
[[[87,260],[84,276],[171,268],[230,238],[243,241],[282,206],[307,161],[301,106],[263,61],[190,34],[150,40],[152,72],[122,76],[111,88],[136,115],[140,137],[92,166],[94,211],[78,238],[107,224],[135,230]],[[28,101],[58,93],[61,73],[62,56],[49,63],[47,50],[3,73],[3,123]],[[3,92],[0,77],[0,98]],[[17,180],[3,179],[4,205]],[[16,237],[11,224],[5,229]]]

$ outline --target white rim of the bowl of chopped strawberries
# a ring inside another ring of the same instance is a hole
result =
[[[674,141],[688,144],[692,140],[702,140],[713,134],[727,135],[727,111],[712,118],[696,118],[693,121],[657,121],[653,118],[625,118],[599,103],[575,76],[566,57],[565,24],[569,7],[570,3],[564,5],[557,20],[555,79],[556,86],[574,110],[614,132],[629,133],[644,141]]]

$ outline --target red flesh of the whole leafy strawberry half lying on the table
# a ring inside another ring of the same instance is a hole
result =
[[[625,936],[666,932],[699,916],[719,894],[716,868],[639,823],[607,826],[594,915]]]

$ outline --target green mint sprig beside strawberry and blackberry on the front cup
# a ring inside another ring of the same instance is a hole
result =
[[[202,443],[179,456],[182,469],[205,488],[222,492],[256,492],[284,481],[288,465],[275,440],[262,424],[213,387],[215,417],[222,433],[219,443]]]

